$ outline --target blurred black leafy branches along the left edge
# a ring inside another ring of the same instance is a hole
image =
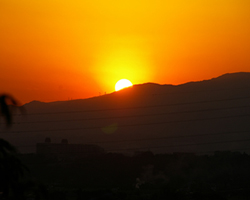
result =
[[[7,126],[12,125],[11,107],[20,104],[10,95],[0,95],[0,115]],[[22,107],[18,107],[24,113]],[[0,139],[0,199],[25,200],[46,197],[43,185],[33,181],[23,181],[28,168],[18,158],[17,150],[6,140]]]

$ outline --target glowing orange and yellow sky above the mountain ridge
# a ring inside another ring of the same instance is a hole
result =
[[[0,0],[0,92],[22,103],[250,71],[248,0]]]

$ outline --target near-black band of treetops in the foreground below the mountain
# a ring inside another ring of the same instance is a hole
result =
[[[250,199],[250,156],[104,154],[89,157],[20,155],[30,172],[26,199]]]

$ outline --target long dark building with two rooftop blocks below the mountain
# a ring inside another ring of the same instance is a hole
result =
[[[36,144],[36,153],[45,156],[88,156],[105,153],[104,149],[93,144],[69,144],[67,139],[61,143],[51,143],[46,138],[44,143]]]

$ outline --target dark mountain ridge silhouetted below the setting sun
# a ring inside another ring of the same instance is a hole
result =
[[[35,144],[94,143],[108,151],[210,152],[250,149],[250,73],[181,85],[145,83],[71,101],[24,105],[2,138],[34,152]]]

